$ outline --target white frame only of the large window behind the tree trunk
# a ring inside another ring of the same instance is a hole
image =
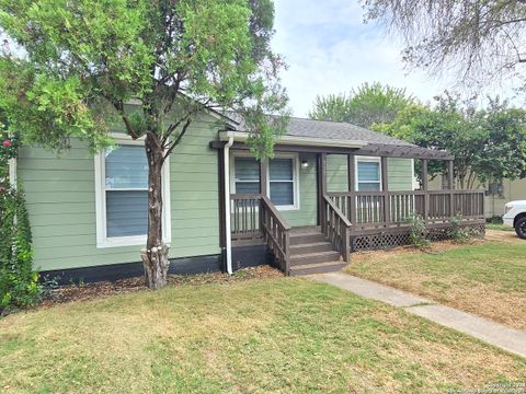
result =
[[[145,146],[145,138],[132,139],[126,135],[112,135],[116,144]],[[95,154],[95,212],[96,212],[96,247],[117,247],[145,245],[147,234],[130,236],[107,236],[106,224],[106,161],[105,152]],[[162,241],[170,244],[172,225],[170,212],[170,159],[162,166]]]

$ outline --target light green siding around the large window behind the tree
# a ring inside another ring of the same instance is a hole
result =
[[[195,123],[170,158],[170,257],[218,254],[218,159],[214,119]],[[94,160],[72,141],[58,158],[23,148],[18,175],[26,192],[35,265],[43,270],[140,260],[142,246],[96,247]]]

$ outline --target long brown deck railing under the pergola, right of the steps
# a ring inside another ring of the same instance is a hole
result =
[[[413,213],[427,223],[484,218],[483,190],[343,192],[328,197],[356,229],[401,225]]]

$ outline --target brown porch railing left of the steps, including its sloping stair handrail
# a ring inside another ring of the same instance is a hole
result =
[[[288,275],[290,268],[290,225],[274,204],[260,194],[230,196],[231,239],[241,244],[266,243],[276,264]]]

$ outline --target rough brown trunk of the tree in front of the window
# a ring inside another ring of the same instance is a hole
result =
[[[167,285],[169,247],[162,243],[162,165],[159,138],[148,132],[145,141],[148,158],[148,240],[141,252],[147,286],[157,290]]]

